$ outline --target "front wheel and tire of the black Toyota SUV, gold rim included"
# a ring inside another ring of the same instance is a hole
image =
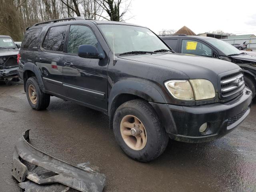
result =
[[[140,162],[156,159],[168,144],[168,134],[153,107],[144,100],[131,100],[119,106],[113,129],[122,150]]]

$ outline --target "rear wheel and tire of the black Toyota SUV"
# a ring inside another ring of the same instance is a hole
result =
[[[42,92],[36,77],[28,78],[26,95],[30,106],[34,110],[44,110],[50,104],[50,95]]]

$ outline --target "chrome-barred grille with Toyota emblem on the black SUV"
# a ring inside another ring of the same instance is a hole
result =
[[[228,98],[238,92],[241,92],[245,87],[244,74],[242,72],[236,72],[234,74],[224,76],[220,79],[220,86],[221,96],[223,98]]]

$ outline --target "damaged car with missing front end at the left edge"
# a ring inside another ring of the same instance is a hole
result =
[[[18,80],[19,46],[10,36],[0,35],[0,80]]]

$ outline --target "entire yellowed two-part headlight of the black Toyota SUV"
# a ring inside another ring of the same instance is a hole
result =
[[[168,92],[178,100],[195,101],[215,97],[214,86],[206,79],[170,80],[164,85]]]

